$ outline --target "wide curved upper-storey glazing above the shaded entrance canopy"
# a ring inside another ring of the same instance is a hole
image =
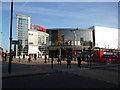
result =
[[[93,41],[91,30],[48,30],[51,46],[89,46]]]

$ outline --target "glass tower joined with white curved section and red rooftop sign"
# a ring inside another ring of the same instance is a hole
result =
[[[48,54],[49,34],[46,29],[38,25],[31,24],[31,17],[17,14],[17,40],[19,44],[15,45],[15,56]]]

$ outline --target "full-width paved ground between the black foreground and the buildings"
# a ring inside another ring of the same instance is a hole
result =
[[[118,74],[119,69],[115,68],[112,70],[104,70],[105,67],[118,67],[118,64],[93,64],[92,67],[87,65],[86,62],[82,62],[82,68],[77,66],[77,61],[72,61],[72,68],[67,68],[66,61],[62,61],[61,65],[58,65],[57,59],[54,60],[53,68],[51,67],[50,60],[44,63],[44,59],[39,58],[37,60],[32,60],[28,63],[27,59],[13,59],[11,65],[11,74],[8,73],[8,61],[2,62],[2,78],[12,78],[12,77],[23,77],[29,75],[43,75],[67,72],[73,73],[79,76],[86,76],[98,80],[103,80],[113,84],[119,84]],[[102,68],[102,69],[100,69]]]

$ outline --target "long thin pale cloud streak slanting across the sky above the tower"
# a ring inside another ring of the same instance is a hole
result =
[[[6,6],[3,7],[5,10]],[[32,14],[39,14],[39,15],[48,15],[48,16],[56,16],[56,17],[67,17],[67,18],[83,18],[85,15],[80,12],[71,12],[71,11],[64,11],[58,9],[50,9],[50,8],[42,8],[42,7],[32,7],[32,6],[20,6],[14,5],[15,12],[22,12],[22,13],[32,13]]]

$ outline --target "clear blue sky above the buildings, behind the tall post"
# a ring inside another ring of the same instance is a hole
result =
[[[99,25],[118,28],[117,2],[14,2],[13,39],[16,14],[31,16],[31,23],[44,28],[82,28]],[[2,47],[9,50],[10,3],[2,2]]]

